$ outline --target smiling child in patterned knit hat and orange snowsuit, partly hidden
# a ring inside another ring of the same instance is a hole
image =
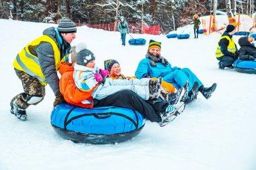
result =
[[[119,65],[119,62],[117,60],[109,59],[104,61],[104,67],[107,71],[109,71],[109,77],[111,79],[131,79],[135,78],[133,77],[125,77],[125,75],[121,74],[121,67]],[[157,78],[152,78],[154,81],[157,80]],[[185,91],[188,90],[188,87],[184,87]],[[181,93],[183,91],[177,91],[177,89],[174,87],[174,85],[171,85],[170,83],[167,83],[166,81],[162,81],[161,89],[160,89],[160,98],[164,101],[169,101],[170,104],[174,104],[179,99]],[[184,93],[185,95],[186,93]]]

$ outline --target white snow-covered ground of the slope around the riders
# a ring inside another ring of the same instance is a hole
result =
[[[51,127],[55,96],[49,86],[46,97],[27,110],[22,122],[9,112],[9,101],[22,92],[12,62],[24,46],[54,24],[0,19],[1,123],[0,169],[256,169],[256,75],[218,70],[215,58],[220,34],[198,39],[167,39],[166,36],[132,34],[145,38],[145,46],[121,46],[118,32],[77,28],[78,42],[88,44],[103,68],[109,58],[119,60],[124,75],[134,75],[145,57],[150,39],[162,42],[162,56],[172,66],[189,67],[205,86],[218,87],[210,99],[199,94],[197,101],[174,122],[160,128],[146,122],[141,133],[119,144],[75,144],[61,138]],[[191,37],[193,35],[191,34]],[[237,43],[240,36],[234,36]],[[127,35],[127,41],[130,39]]]

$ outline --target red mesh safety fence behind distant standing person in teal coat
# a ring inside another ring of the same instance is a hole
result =
[[[98,25],[92,25],[88,24],[86,25],[90,28],[98,28],[102,30],[107,31],[114,31],[115,23],[110,24],[98,24]],[[118,26],[118,24],[117,24]],[[129,32],[134,34],[153,34],[153,35],[160,35],[160,26],[146,26],[143,24],[143,31],[141,31],[141,23],[135,23],[135,24],[128,24]],[[116,29],[118,30],[118,28]]]

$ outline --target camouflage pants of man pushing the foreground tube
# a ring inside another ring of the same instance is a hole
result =
[[[19,77],[19,79],[22,81],[22,86],[24,89],[24,93],[20,93],[18,95],[15,95],[13,99],[11,99],[11,102],[13,102],[15,99],[16,104],[19,108],[26,109],[28,106],[31,105],[31,103],[28,103],[29,99],[31,97],[42,97],[42,99],[45,96],[45,86],[42,85],[36,77],[32,77],[28,75],[27,73],[23,71],[15,70],[16,75]],[[42,101],[42,99],[40,101]],[[40,103],[38,101],[37,103],[32,103],[32,105],[36,105]]]

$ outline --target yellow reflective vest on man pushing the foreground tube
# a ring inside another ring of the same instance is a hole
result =
[[[36,77],[42,85],[47,85],[46,79],[42,73],[38,56],[35,56],[30,52],[31,46],[37,46],[41,42],[49,42],[53,46],[54,57],[55,57],[55,69],[59,68],[59,63],[64,62],[67,56],[63,57],[61,60],[61,53],[57,43],[49,36],[40,36],[36,40],[30,42],[22,49],[21,52],[16,56],[13,67],[19,71],[24,71],[33,77]]]

